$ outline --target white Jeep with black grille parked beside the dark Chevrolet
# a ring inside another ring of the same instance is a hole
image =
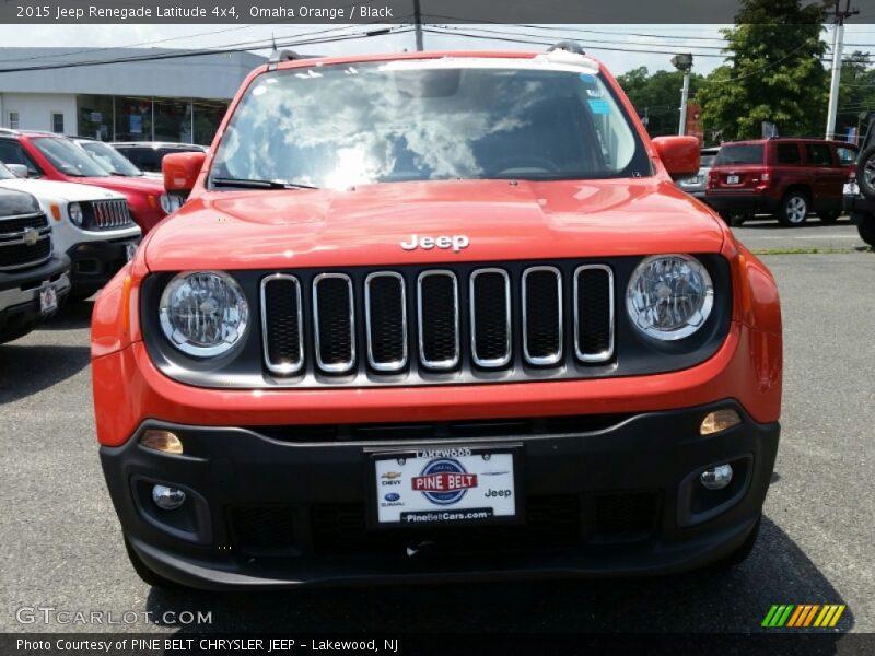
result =
[[[86,298],[127,262],[140,243],[128,201],[116,191],[19,177],[15,165],[0,163],[0,187],[27,191],[51,224],[55,253],[70,257],[73,298]]]

